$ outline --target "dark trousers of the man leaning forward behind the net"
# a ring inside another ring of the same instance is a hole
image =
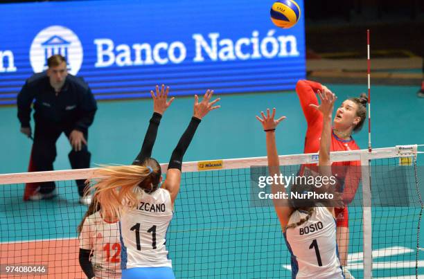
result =
[[[47,125],[35,123],[33,154],[31,160],[35,166],[35,171],[42,172],[53,170],[53,162],[56,159],[56,141],[62,132],[69,138],[73,130],[73,125]],[[88,131],[83,132],[86,141],[88,141]],[[73,169],[89,168],[91,154],[87,150],[87,145],[82,143],[80,151],[71,150],[69,152],[69,161]],[[78,194],[82,196],[85,190],[85,180],[76,181]],[[46,194],[55,189],[54,181],[39,183],[39,192]]]

